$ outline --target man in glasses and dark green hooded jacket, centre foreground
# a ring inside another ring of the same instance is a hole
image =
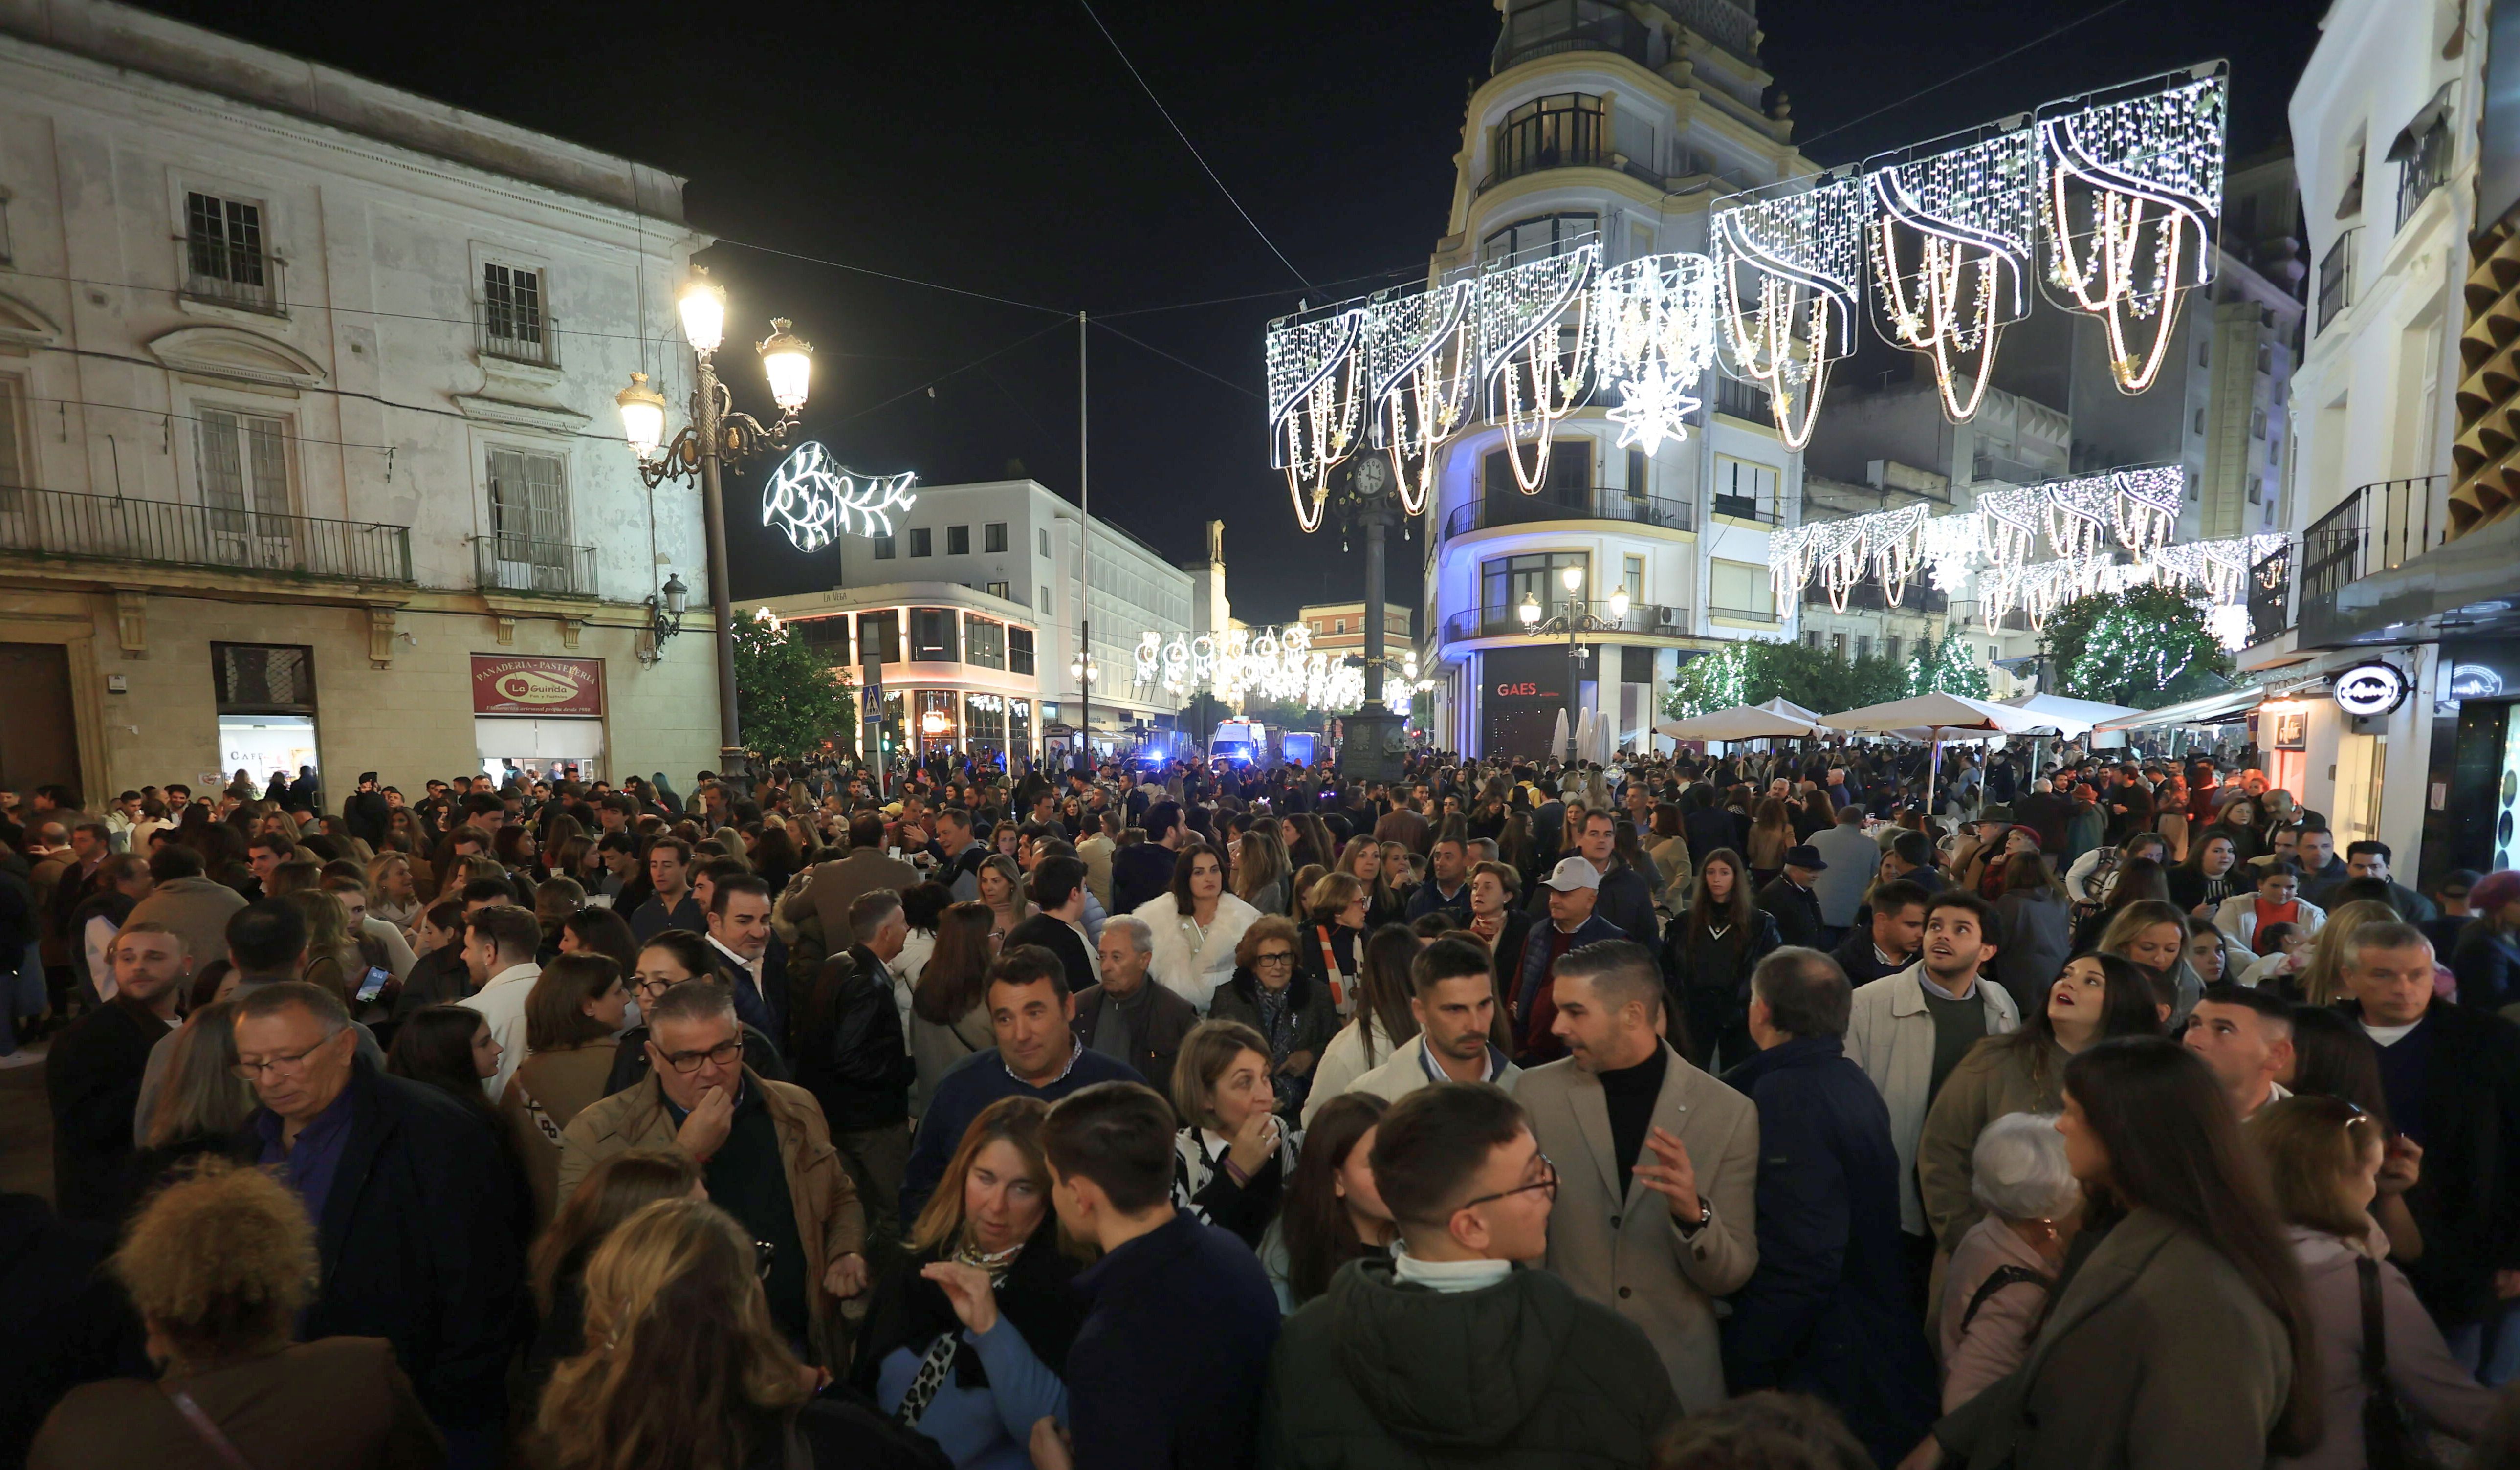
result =
[[[1590,1172],[1588,1152],[1567,1172]],[[1288,1319],[1263,1462],[1653,1460],[1681,1404],[1646,1331],[1527,1271],[1552,1256],[1562,1180],[1517,1099],[1482,1082],[1411,1092],[1376,1125],[1368,1165],[1399,1248],[1343,1266]]]

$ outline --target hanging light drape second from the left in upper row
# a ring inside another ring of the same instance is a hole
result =
[[[1436,449],[1469,424],[1479,386],[1474,290],[1477,282],[1457,280],[1436,290],[1373,298],[1358,328],[1373,441],[1391,454],[1401,509],[1409,514],[1426,509]]]

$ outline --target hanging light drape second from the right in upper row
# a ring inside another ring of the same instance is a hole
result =
[[[1996,338],[2031,310],[2039,134],[2029,113],[1958,146],[1923,144],[1865,164],[1880,333],[1933,358],[1943,414],[1976,416]],[[1928,151],[1930,149],[1930,151]],[[1963,363],[1968,386],[1961,386]]]

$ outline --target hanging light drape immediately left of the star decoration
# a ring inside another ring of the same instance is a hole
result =
[[[1479,383],[1497,396],[1502,414],[1489,421],[1504,424],[1504,459],[1522,494],[1540,492],[1557,421],[1593,391],[1585,303],[1598,265],[1600,242],[1585,237],[1522,265],[1497,260],[1479,275]],[[1522,461],[1525,444],[1532,449],[1530,466]]]

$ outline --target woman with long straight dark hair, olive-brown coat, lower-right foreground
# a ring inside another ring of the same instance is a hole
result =
[[[2238,1467],[2318,1445],[2301,1263],[2205,1062],[2157,1036],[2099,1041],[2064,1067],[2056,1132],[2092,1200],[2089,1248],[2021,1369],[1945,1415],[1933,1442],[2019,1470]]]

